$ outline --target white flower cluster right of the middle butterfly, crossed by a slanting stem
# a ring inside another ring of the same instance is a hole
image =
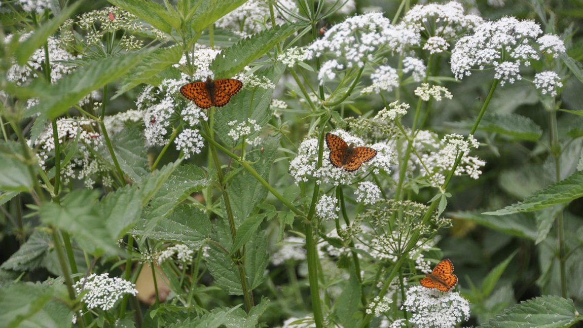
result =
[[[419,131],[413,140],[413,147],[421,155],[422,165],[417,156],[412,156],[413,165],[418,167],[421,173],[429,178],[433,186],[440,186],[445,182],[445,176],[451,170],[455,158],[459,153],[463,153],[462,160],[456,168],[456,176],[467,174],[473,179],[479,178],[486,162],[480,158],[469,156],[472,148],[477,148],[479,144],[473,136],[466,140],[461,135],[451,134],[438,139],[436,133],[430,131]],[[427,172],[427,170],[429,172]]]

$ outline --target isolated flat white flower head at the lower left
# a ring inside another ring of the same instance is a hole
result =
[[[93,273],[79,280],[73,287],[77,294],[83,293],[81,301],[87,305],[87,309],[101,308],[103,311],[113,308],[124,294],[138,294],[134,284],[122,278],[110,278],[107,273]]]

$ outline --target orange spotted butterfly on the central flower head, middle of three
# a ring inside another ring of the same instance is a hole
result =
[[[326,144],[330,149],[330,163],[349,172],[358,170],[364,162],[377,156],[377,151],[371,147],[354,147],[352,143],[346,144],[341,137],[329,132],[326,133]]]

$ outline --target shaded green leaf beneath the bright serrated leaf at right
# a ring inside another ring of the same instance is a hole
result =
[[[459,218],[461,220],[468,220],[484,227],[491,228],[496,231],[504,232],[504,234],[536,240],[538,234],[535,220],[528,214],[518,213],[511,216],[487,216],[478,212],[458,211],[448,213],[452,218]]]

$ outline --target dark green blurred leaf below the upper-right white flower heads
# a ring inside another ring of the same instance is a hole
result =
[[[473,121],[463,121],[453,125],[470,128]],[[532,119],[518,114],[486,114],[480,121],[480,131],[500,133],[519,140],[536,141],[543,131]]]

